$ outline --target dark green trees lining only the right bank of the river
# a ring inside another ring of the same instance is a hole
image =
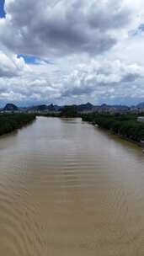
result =
[[[106,115],[106,114],[85,114],[84,121],[99,125],[115,134],[124,136],[132,141],[144,141],[144,123],[137,121],[138,115]]]

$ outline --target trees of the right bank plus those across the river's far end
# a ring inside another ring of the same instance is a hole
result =
[[[138,143],[144,141],[144,123],[137,121],[139,115],[136,114],[80,114],[76,106],[65,106],[61,108],[60,112],[46,114],[45,116],[66,118],[82,117],[82,120],[88,121],[93,125],[99,125],[99,127],[112,131],[125,139]]]

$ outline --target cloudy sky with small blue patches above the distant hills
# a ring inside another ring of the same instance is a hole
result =
[[[0,0],[0,106],[142,101],[143,0]]]

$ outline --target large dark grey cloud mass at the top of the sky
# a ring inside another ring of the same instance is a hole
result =
[[[36,56],[108,51],[116,43],[110,31],[127,24],[130,16],[116,0],[63,0],[55,5],[48,0],[8,0],[6,12],[0,29],[3,45]]]

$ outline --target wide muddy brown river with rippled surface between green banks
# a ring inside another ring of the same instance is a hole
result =
[[[0,255],[143,256],[141,147],[80,119],[1,137]]]

